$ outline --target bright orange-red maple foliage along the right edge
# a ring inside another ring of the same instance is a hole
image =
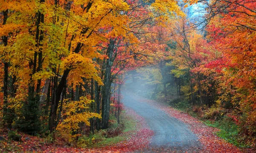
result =
[[[243,114],[238,115],[241,127],[250,136],[255,133],[255,5],[255,1],[247,0],[212,1],[209,9],[219,9],[217,15],[209,14],[212,20],[207,27],[214,45],[228,61],[217,64],[227,67],[223,73],[226,84],[231,86],[228,92]]]

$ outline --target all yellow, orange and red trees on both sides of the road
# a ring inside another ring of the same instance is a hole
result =
[[[121,124],[121,87],[140,68],[152,97],[232,116],[255,146],[256,1],[200,1],[201,23],[194,3],[0,0],[2,126],[75,141],[108,129],[111,113]]]

